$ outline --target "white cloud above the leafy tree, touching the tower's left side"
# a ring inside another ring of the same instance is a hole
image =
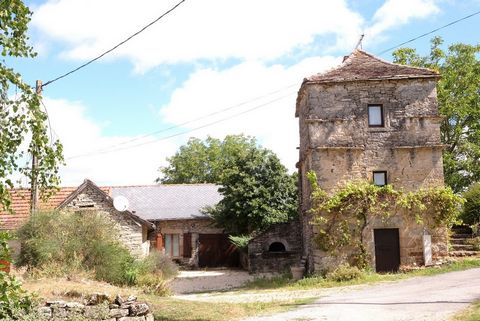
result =
[[[227,134],[240,133],[255,136],[264,147],[277,153],[282,163],[293,171],[298,161],[296,147],[299,144],[298,119],[294,116],[295,101],[302,79],[340,62],[340,58],[328,56],[305,59],[289,68],[245,62],[222,71],[199,70],[174,91],[170,102],[160,109],[160,114],[170,123],[182,124],[250,101],[208,120],[200,120],[184,127],[197,128],[246,112],[214,126],[196,130],[191,136],[223,138]],[[282,90],[275,92],[280,88]],[[265,96],[265,93],[272,94]],[[259,96],[264,97],[251,101]],[[254,110],[247,112],[252,109]]]

